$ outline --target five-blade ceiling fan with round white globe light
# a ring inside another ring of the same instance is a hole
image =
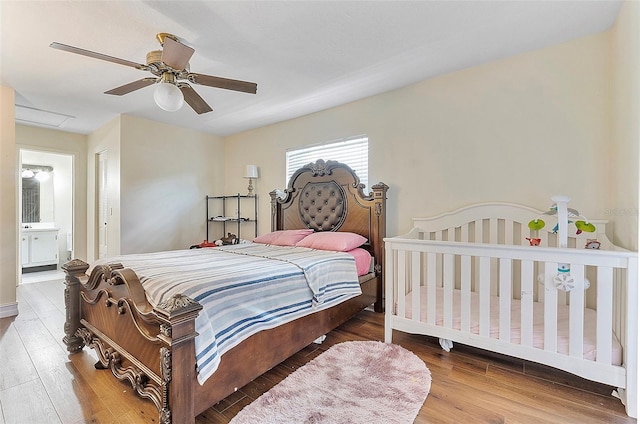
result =
[[[146,65],[57,42],[51,43],[49,47],[151,72],[154,75],[153,77],[130,82],[129,84],[105,91],[105,94],[122,96],[157,83],[158,85],[153,97],[158,106],[170,112],[180,109],[183,102],[187,102],[198,114],[211,112],[213,110],[207,102],[184,81],[192,84],[242,91],[251,94],[257,92],[258,85],[253,82],[191,72],[189,70],[189,59],[191,59],[191,56],[195,52],[194,49],[180,43],[178,38],[172,34],[162,32],[156,35],[156,39],[162,46],[162,50],[152,50],[147,53]]]

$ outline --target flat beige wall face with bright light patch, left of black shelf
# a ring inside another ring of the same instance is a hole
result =
[[[121,253],[205,239],[205,196],[224,188],[222,139],[141,118],[121,120]]]

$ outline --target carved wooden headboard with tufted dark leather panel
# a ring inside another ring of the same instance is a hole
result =
[[[381,273],[389,187],[378,183],[369,195],[363,188],[355,172],[343,163],[318,160],[305,165],[293,174],[284,192],[269,193],[271,229],[360,234],[368,240],[363,248],[374,256],[376,274]]]

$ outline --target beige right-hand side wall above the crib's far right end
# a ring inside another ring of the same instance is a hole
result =
[[[638,250],[640,3],[625,1],[612,33],[613,131],[608,219],[614,241]]]

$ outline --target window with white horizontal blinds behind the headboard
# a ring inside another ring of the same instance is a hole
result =
[[[335,160],[347,164],[360,178],[366,189],[369,185],[369,138],[366,136],[315,144],[287,151],[287,181],[299,168],[318,159]]]

